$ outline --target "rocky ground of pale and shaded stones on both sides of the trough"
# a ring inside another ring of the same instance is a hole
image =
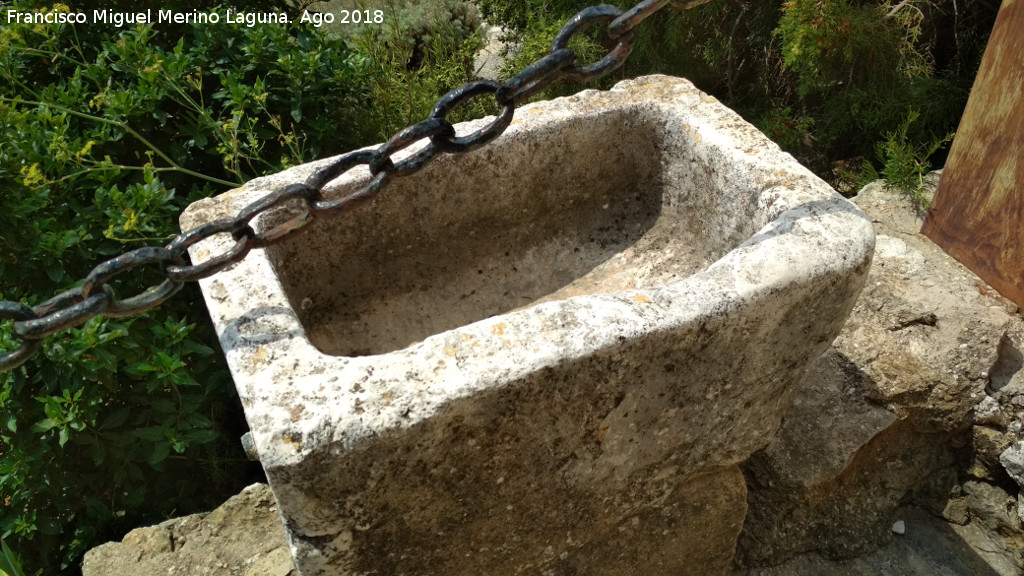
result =
[[[934,187],[936,177],[931,178]],[[1024,574],[1024,321],[877,182],[867,287],[744,465],[734,576]],[[84,576],[293,576],[266,486],[91,550]]]

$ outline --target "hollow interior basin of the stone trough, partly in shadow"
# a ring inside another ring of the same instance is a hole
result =
[[[395,178],[372,204],[267,253],[310,341],[338,356],[400,349],[542,301],[671,283],[735,243],[710,242],[681,205],[709,193],[676,183],[703,178],[667,181],[666,154],[685,152],[663,139],[630,111],[511,133]]]

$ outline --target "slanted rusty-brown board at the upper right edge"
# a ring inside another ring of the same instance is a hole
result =
[[[1024,0],[1004,0],[922,232],[1024,307]]]

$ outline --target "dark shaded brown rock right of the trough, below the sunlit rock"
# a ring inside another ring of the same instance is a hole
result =
[[[890,537],[892,513],[932,470],[944,442],[866,400],[870,380],[838,351],[808,369],[782,428],[744,465],[750,508],[743,566],[771,566],[810,550],[851,558]]]

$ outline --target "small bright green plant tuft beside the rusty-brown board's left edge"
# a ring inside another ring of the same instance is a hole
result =
[[[907,133],[918,118],[918,113],[911,110],[899,127],[887,132],[885,140],[876,146],[876,154],[884,164],[882,175],[888,186],[905,193],[924,210],[928,208],[928,198],[924,194],[925,175],[932,169],[928,159],[953,139],[953,132],[925,145],[911,142]]]

